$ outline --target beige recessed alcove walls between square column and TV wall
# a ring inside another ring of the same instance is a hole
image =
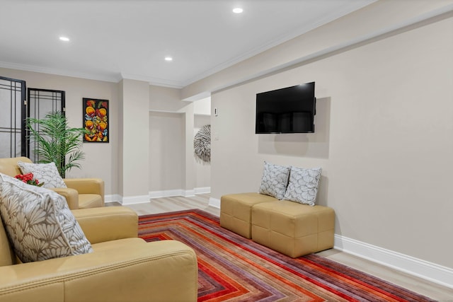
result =
[[[179,89],[159,86],[149,86],[149,93],[151,196],[189,196],[209,187],[210,168],[195,161],[193,137],[200,119],[210,123],[209,116],[196,114],[209,114],[210,100],[183,101]]]

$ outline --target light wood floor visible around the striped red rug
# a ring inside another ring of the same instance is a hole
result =
[[[144,204],[128,204],[127,207],[134,209],[138,215],[158,214],[185,209],[202,209],[219,216],[220,209],[210,207],[209,198],[209,194],[197,194],[195,197],[164,197],[151,199],[150,202]],[[378,265],[360,257],[341,252],[340,250],[331,249],[319,252],[318,254],[359,269],[362,272],[372,274],[375,277],[403,286],[406,289],[428,296],[436,301],[453,302],[453,289],[449,289],[446,286],[440,286],[410,274],[399,272],[396,269]]]

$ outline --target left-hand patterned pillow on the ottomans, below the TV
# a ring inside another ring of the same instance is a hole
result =
[[[277,199],[283,199],[288,184],[289,167],[264,162],[263,178],[259,192]]]

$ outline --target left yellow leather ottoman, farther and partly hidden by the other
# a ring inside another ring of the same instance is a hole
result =
[[[220,226],[250,239],[253,205],[277,200],[272,196],[259,193],[224,195],[220,197]]]

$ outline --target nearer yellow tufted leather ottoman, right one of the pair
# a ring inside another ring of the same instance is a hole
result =
[[[333,248],[334,228],[329,207],[279,200],[252,208],[252,240],[293,258]]]

